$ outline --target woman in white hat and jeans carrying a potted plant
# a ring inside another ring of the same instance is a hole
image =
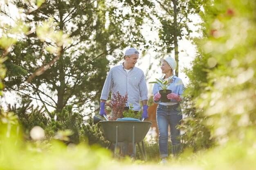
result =
[[[162,58],[162,73],[164,74],[161,79],[168,80],[168,90],[172,93],[167,95],[168,102],[161,102],[161,95],[159,90],[162,90],[158,84],[154,84],[153,95],[154,102],[157,106],[157,126],[159,130],[159,152],[161,163],[167,162],[168,157],[168,126],[171,131],[172,154],[177,155],[180,152],[180,140],[177,136],[180,135],[180,130],[177,125],[180,124],[182,119],[181,110],[179,108],[182,101],[182,93],[184,84],[180,78],[175,76],[174,70],[177,66],[176,61],[172,57]]]

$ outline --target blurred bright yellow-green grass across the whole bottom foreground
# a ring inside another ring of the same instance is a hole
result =
[[[108,150],[88,147],[85,144],[64,145],[62,142],[37,141],[24,142],[20,136],[17,117],[0,113],[0,170],[12,169],[38,169],[56,170],[58,168],[82,169],[112,169],[113,167],[140,168],[149,164],[150,168],[159,168],[153,163],[159,162],[157,141],[145,141],[148,162],[112,159]],[[4,121],[2,121],[4,118]],[[7,124],[5,122],[8,122]],[[8,124],[11,124],[9,126]],[[11,127],[11,128],[10,128]],[[190,150],[178,158],[170,157],[168,167],[180,167],[184,169],[205,170],[254,170],[255,168],[255,129],[247,128],[244,134],[245,140],[230,138],[226,146],[218,146],[215,149],[205,150],[194,154]],[[170,141],[169,141],[170,142]],[[168,144],[171,150],[171,144]],[[138,151],[138,149],[137,149]],[[137,153],[137,158],[139,154]],[[16,163],[18,162],[18,164]],[[216,163],[218,162],[218,163]],[[138,165],[139,164],[139,165]],[[142,164],[142,165],[141,165]]]

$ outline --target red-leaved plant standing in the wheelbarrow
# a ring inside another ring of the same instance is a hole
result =
[[[113,93],[112,99],[106,106],[112,109],[112,117],[108,117],[110,120],[116,120],[118,118],[123,118],[124,106],[126,105],[128,94],[125,96],[120,95],[119,92]],[[105,110],[106,111],[106,110]],[[106,111],[108,114],[108,112]]]

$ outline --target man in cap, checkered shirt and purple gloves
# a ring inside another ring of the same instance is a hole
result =
[[[106,115],[105,102],[112,91],[112,95],[119,92],[120,95],[128,94],[127,102],[132,104],[133,110],[141,110],[139,99],[143,104],[141,118],[148,118],[148,89],[146,79],[141,69],[135,67],[139,58],[139,51],[135,48],[127,49],[124,54],[124,62],[110,69],[101,92],[100,115]],[[129,105],[128,105],[129,106]]]

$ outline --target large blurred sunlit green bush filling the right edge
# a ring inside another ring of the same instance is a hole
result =
[[[198,55],[187,71],[184,137],[188,144],[209,148],[231,139],[247,140],[256,129],[256,18],[254,1],[208,1],[204,5]],[[191,138],[192,137],[192,138]],[[249,146],[250,147],[250,146]]]

